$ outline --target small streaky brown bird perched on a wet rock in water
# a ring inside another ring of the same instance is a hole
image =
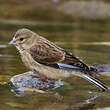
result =
[[[73,53],[27,28],[18,29],[9,44],[15,45],[25,66],[36,74],[55,80],[78,76],[102,91],[108,90],[94,69]]]

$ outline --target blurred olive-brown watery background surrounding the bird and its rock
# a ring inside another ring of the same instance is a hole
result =
[[[62,97],[17,97],[4,85],[28,71],[8,42],[20,28],[28,28],[73,52],[88,65],[110,65],[110,0],[0,0],[0,110],[110,110],[109,93],[80,78],[54,90]],[[109,76],[109,75],[108,75]],[[102,79],[109,85],[109,77]]]

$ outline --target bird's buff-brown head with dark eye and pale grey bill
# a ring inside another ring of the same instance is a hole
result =
[[[15,45],[19,51],[23,51],[32,46],[35,41],[35,36],[36,34],[29,29],[19,29],[9,44]]]

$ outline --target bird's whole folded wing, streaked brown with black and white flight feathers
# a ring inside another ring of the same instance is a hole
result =
[[[33,59],[41,64],[45,64],[57,68],[82,69],[84,73],[93,75],[89,67],[79,58],[56,46],[46,39],[40,39],[36,45],[30,48],[30,53]]]

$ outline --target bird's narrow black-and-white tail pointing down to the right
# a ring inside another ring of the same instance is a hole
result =
[[[88,76],[88,75],[85,75],[85,74],[79,74],[79,73],[78,74],[76,73],[74,75],[86,79],[87,81],[89,81],[90,83],[94,84],[95,86],[97,86],[102,91],[109,90],[108,87],[101,80],[99,80],[97,78],[94,78],[92,76]]]

